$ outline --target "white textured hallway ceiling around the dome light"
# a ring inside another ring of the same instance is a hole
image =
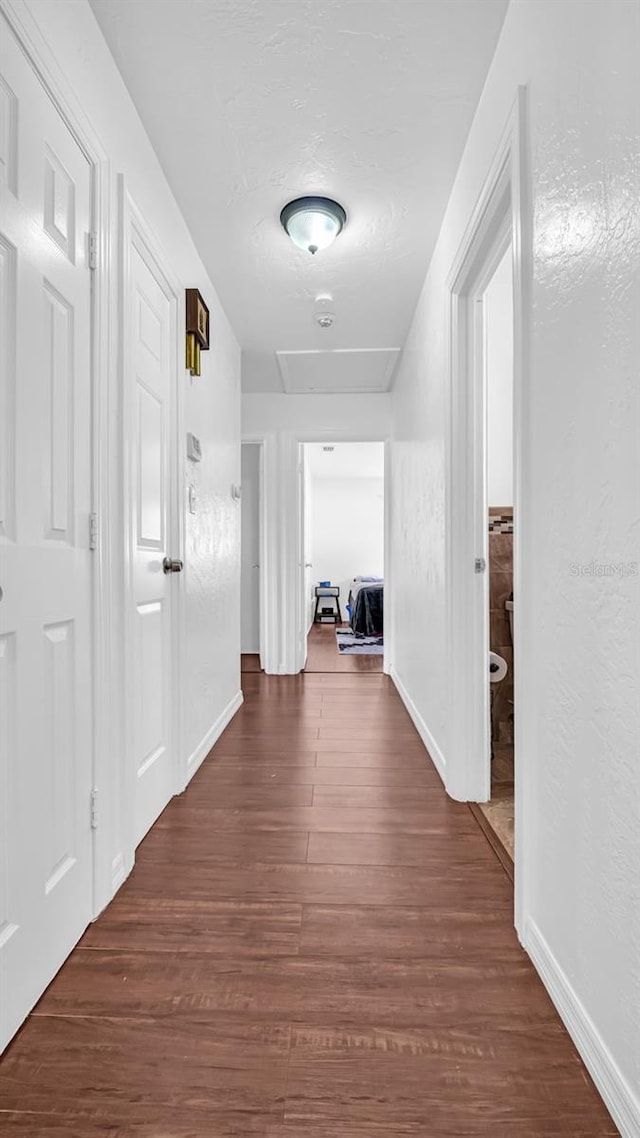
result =
[[[244,389],[282,390],[278,351],[401,348],[507,0],[91,6],[241,345]],[[315,257],[279,223],[303,193],[347,212]]]

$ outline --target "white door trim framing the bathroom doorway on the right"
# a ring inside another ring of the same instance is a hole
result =
[[[526,721],[528,501],[527,438],[524,432],[528,385],[531,320],[531,208],[526,180],[526,89],[518,88],[502,140],[461,241],[448,280],[450,295],[450,401],[446,427],[446,595],[449,597],[449,723],[446,789],[461,801],[489,797],[490,764],[485,734],[489,690],[487,582],[474,572],[474,560],[487,560],[487,519],[483,393],[474,388],[471,311],[483,284],[509,239],[514,265],[514,701],[516,708],[516,927],[524,929],[527,834],[524,803],[527,768],[534,754],[533,724]],[[504,231],[504,224],[508,231]],[[478,547],[479,546],[479,547]],[[470,708],[470,714],[461,714]]]

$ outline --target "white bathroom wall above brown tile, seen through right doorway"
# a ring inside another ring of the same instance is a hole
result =
[[[484,294],[489,505],[514,504],[514,280],[509,245]]]

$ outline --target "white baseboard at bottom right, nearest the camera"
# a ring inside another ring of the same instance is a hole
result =
[[[524,947],[622,1138],[638,1138],[640,1135],[640,1100],[620,1071],[596,1024],[531,917],[525,921]]]

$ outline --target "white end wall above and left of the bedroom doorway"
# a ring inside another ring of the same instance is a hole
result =
[[[264,439],[264,572],[270,585],[263,666],[268,673],[300,671],[305,657],[298,443],[385,439],[391,403],[388,394],[243,395],[243,438]]]

